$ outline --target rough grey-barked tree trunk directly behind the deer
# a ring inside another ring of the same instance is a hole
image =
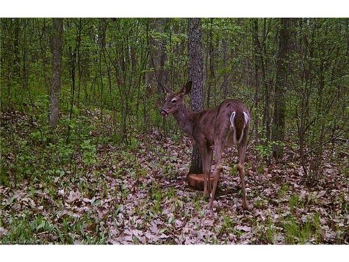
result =
[[[204,107],[204,77],[202,74],[201,50],[201,19],[190,18],[188,31],[189,79],[193,81],[191,88],[191,110],[196,112],[203,110]],[[202,162],[198,149],[194,147],[189,174],[199,173],[202,173]]]

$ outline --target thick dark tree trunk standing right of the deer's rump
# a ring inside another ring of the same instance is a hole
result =
[[[285,92],[288,85],[288,52],[290,41],[290,18],[281,18],[279,34],[279,52],[276,60],[276,85],[274,94],[274,120],[272,141],[285,139]],[[273,157],[283,157],[283,146],[273,145]]]

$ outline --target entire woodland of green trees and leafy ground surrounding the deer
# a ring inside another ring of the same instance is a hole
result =
[[[1,19],[0,242],[348,243],[348,22]],[[251,110],[252,212],[235,149],[214,212],[187,187],[158,82],[189,78]]]

